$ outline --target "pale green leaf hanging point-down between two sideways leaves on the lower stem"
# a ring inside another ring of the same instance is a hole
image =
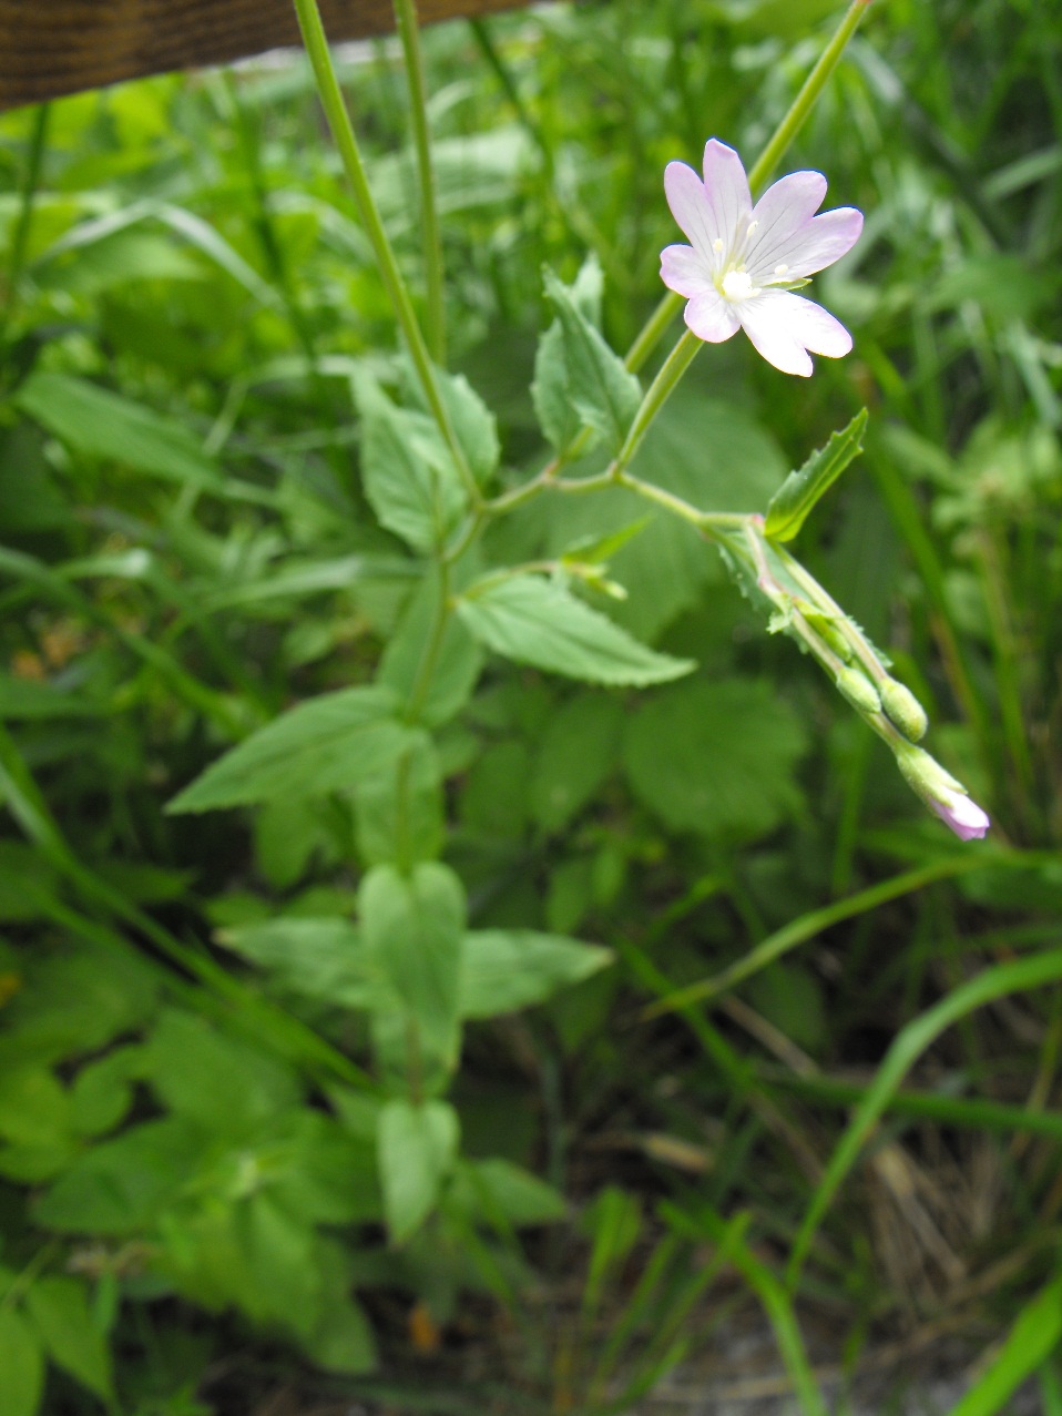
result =
[[[377,865],[358,891],[365,953],[402,1000],[416,1045],[453,1065],[460,1041],[459,990],[464,888],[436,862],[404,875]]]

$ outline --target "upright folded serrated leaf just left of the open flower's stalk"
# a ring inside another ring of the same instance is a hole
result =
[[[568,404],[579,425],[593,428],[612,452],[619,452],[641,402],[637,375],[609,348],[572,290],[548,269],[545,292],[556,310],[559,340],[548,330],[541,360],[535,361],[532,392],[539,418],[545,412],[544,432],[558,450],[571,442],[571,419],[564,413]]]

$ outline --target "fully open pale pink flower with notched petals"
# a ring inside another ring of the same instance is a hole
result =
[[[741,327],[769,364],[803,377],[811,372],[809,350],[828,358],[848,353],[848,330],[793,295],[793,286],[838,261],[862,231],[854,207],[816,215],[826,197],[821,173],[790,173],[753,207],[741,157],[711,137],[704,181],[687,163],[668,163],[664,191],[691,245],[661,252],[660,278],[685,296],[685,323],[698,338],[721,344]]]

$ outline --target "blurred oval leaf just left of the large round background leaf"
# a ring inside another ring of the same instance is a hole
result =
[[[623,704],[581,694],[545,729],[531,775],[531,811],[547,831],[568,826],[619,762]]]

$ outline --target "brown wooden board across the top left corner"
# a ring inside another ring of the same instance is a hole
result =
[[[517,0],[419,0],[423,23]],[[394,30],[391,0],[321,0],[333,40]],[[299,44],[290,0],[0,0],[0,110]]]

